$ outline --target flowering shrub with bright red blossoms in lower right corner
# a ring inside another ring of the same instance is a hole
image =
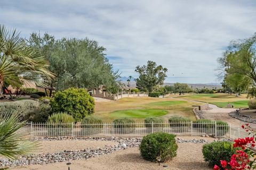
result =
[[[236,150],[236,154],[232,155],[229,163],[226,160],[220,160],[221,167],[214,165],[214,170],[225,169],[225,170],[244,170],[244,169],[255,169],[256,164],[256,152],[255,147],[255,132],[252,131],[251,127],[247,123],[246,126],[242,125],[242,128],[249,134],[253,134],[253,137],[238,138],[234,140],[233,147],[239,148]],[[229,167],[230,166],[230,167]]]

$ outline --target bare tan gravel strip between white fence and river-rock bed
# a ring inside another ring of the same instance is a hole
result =
[[[87,148],[102,148],[117,145],[118,142],[113,141],[95,141],[95,140],[53,140],[39,141],[40,148],[35,152],[38,153],[54,153],[63,150],[81,150]]]

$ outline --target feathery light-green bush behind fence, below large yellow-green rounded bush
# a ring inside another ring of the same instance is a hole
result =
[[[74,118],[67,113],[54,113],[47,119],[48,135],[71,135]]]

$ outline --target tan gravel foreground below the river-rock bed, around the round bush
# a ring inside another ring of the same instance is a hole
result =
[[[140,156],[138,148],[129,148],[125,150],[118,150],[113,154],[103,155],[100,157],[94,157],[87,160],[73,160],[70,161],[70,170],[78,169],[175,169],[175,170],[189,170],[189,169],[212,169],[207,167],[204,162],[202,155],[203,144],[195,143],[178,143],[177,157],[167,163],[161,163],[158,166],[157,163],[151,163],[143,160]],[[163,165],[168,165],[168,167],[163,167]],[[40,169],[40,170],[58,170],[67,169],[65,163],[55,163],[50,165],[31,165],[29,167],[19,167],[11,169]]]

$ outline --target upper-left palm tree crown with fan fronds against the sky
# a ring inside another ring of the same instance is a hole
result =
[[[48,66],[41,52],[28,47],[20,33],[0,25],[0,89],[4,84],[21,87],[23,80],[44,87],[44,80],[54,78]]]

